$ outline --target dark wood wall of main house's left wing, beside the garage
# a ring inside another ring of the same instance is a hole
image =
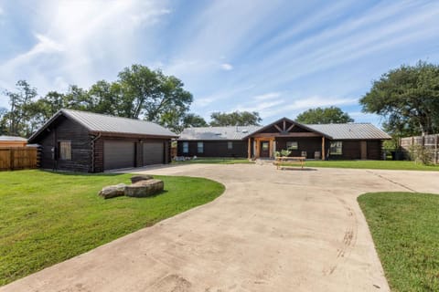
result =
[[[188,142],[188,153],[183,153],[183,142]],[[199,141],[203,152],[198,152],[198,141],[178,141],[177,156],[197,157],[247,157],[247,141]],[[228,145],[231,142],[231,149]]]

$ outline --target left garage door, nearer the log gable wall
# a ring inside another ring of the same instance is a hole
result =
[[[103,169],[134,167],[134,142],[103,141]]]

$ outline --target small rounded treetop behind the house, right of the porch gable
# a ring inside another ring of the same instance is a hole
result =
[[[297,115],[295,120],[304,124],[339,124],[354,121],[347,112],[337,107],[305,110]]]

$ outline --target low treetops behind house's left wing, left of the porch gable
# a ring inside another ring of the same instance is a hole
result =
[[[256,111],[212,112],[210,126],[259,126],[262,121]]]

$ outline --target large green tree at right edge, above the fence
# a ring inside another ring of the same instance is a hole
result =
[[[419,61],[391,69],[359,100],[383,117],[384,130],[403,137],[439,132],[439,66]]]

